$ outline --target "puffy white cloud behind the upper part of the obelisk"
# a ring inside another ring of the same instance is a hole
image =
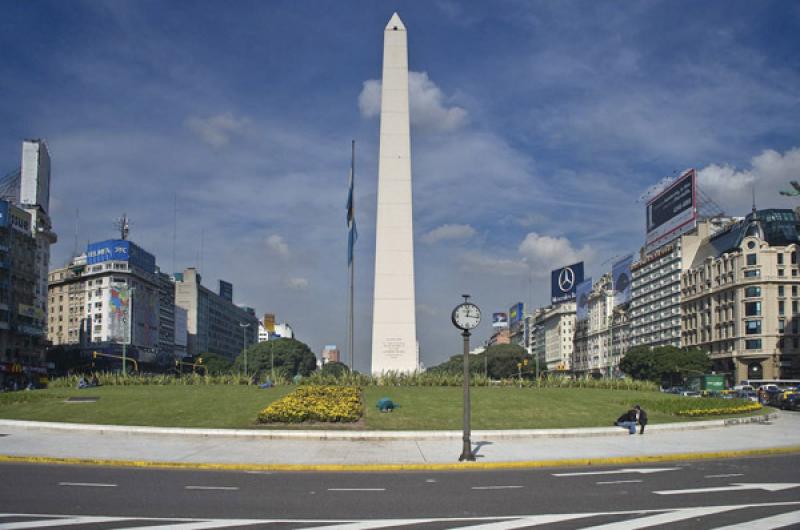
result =
[[[448,105],[442,90],[428,78],[426,72],[408,73],[408,97],[411,124],[424,130],[447,132],[460,129],[467,123],[467,111]],[[381,112],[381,81],[369,79],[358,95],[358,108],[365,118]]]

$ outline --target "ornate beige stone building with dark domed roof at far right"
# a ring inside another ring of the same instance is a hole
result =
[[[681,275],[682,344],[743,379],[800,378],[797,212],[753,211],[707,237]]]

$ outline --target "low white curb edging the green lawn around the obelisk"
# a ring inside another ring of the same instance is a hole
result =
[[[684,423],[648,425],[650,431],[686,431],[730,427],[749,423],[766,423],[778,417],[772,412],[758,416],[706,420]],[[83,423],[56,423],[26,420],[0,420],[0,427],[25,429],[95,432],[97,434],[128,434],[155,436],[194,436],[200,438],[233,437],[256,440],[335,440],[335,441],[417,441],[460,440],[462,431],[312,431],[312,430],[247,430],[247,429],[187,429],[179,427],[141,427],[123,425],[98,425]],[[591,427],[579,429],[516,429],[472,431],[472,435],[495,440],[514,438],[573,438],[592,436],[621,436],[627,431],[619,427]]]

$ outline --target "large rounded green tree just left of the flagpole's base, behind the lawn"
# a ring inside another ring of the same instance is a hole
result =
[[[304,343],[295,339],[275,339],[259,342],[247,348],[247,371],[259,375],[276,374],[293,377],[307,376],[317,369],[317,356]],[[234,371],[244,369],[244,354],[239,354],[233,363]]]

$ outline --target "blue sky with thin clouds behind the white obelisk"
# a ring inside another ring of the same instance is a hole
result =
[[[131,239],[319,353],[344,345],[356,140],[356,366],[371,334],[383,28],[409,38],[417,322],[428,366],[484,313],[544,305],[549,271],[599,276],[644,241],[639,197],[695,167],[729,214],[791,207],[800,4],[0,1],[0,172],[53,159],[53,265]],[[202,249],[202,253],[201,253]],[[201,257],[202,254],[202,257]],[[490,321],[489,318],[485,319]],[[473,341],[490,334],[482,324]]]

